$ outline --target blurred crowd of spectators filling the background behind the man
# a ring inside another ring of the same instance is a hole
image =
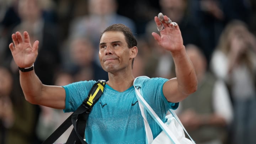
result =
[[[40,144],[71,114],[25,100],[12,33],[39,40],[36,74],[63,86],[108,80],[98,62],[100,32],[123,23],[138,41],[133,75],[170,79],[171,54],[151,36],[159,12],[178,23],[196,69],[198,90],[176,110],[188,133],[197,144],[255,144],[255,0],[0,0],[0,144]]]

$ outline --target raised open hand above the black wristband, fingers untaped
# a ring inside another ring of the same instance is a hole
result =
[[[32,47],[28,32],[25,31],[23,36],[24,39],[20,32],[12,34],[13,43],[10,43],[9,48],[15,63],[21,68],[28,68],[37,58],[39,41],[35,41]]]

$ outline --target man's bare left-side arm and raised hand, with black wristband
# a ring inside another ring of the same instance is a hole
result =
[[[10,43],[9,48],[17,66],[29,68],[36,61],[39,41],[35,41],[31,46],[30,37],[26,31],[23,32],[23,36],[20,32],[12,34],[13,43]],[[28,102],[58,109],[65,108],[64,88],[43,85],[34,70],[20,71],[20,84]]]

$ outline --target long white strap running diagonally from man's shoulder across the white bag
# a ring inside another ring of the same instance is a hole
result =
[[[135,87],[135,86],[134,86]],[[138,87],[138,89],[140,89]],[[166,133],[166,135],[171,139],[171,141],[174,144],[180,144],[180,142],[178,142],[177,138],[175,137],[175,135],[171,132],[171,130],[164,124],[164,122],[162,122],[162,120],[158,117],[158,115],[155,113],[155,111],[149,106],[149,104],[144,100],[144,98],[142,97],[142,95],[140,94],[139,90],[135,87],[135,93],[136,93],[136,97],[139,100],[139,102],[141,102],[141,104],[145,107],[145,109],[149,112],[150,116],[156,121],[156,123],[158,123],[158,125],[161,127],[162,130],[164,130],[164,132]]]

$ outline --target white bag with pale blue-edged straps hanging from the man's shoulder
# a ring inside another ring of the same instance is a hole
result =
[[[146,76],[143,76],[143,77],[146,77]],[[180,119],[177,117],[176,113],[172,109],[169,110],[170,113],[168,112],[169,114],[167,113],[165,117],[167,119],[167,122],[165,123],[162,122],[162,120],[158,117],[158,115],[154,112],[154,110],[149,106],[149,104],[144,100],[143,96],[140,94],[140,87],[135,86],[136,80],[137,78],[134,80],[133,86],[135,88],[135,93],[138,99],[140,111],[144,119],[146,143],[147,144],[195,144],[194,140],[187,133]],[[162,128],[162,132],[155,139],[153,139],[153,134],[149,127],[148,121],[146,119],[146,111],[144,111],[144,108],[151,115],[151,117],[153,117],[156,123],[158,123],[158,125]],[[191,140],[185,137],[184,131],[187,133],[188,137]]]

